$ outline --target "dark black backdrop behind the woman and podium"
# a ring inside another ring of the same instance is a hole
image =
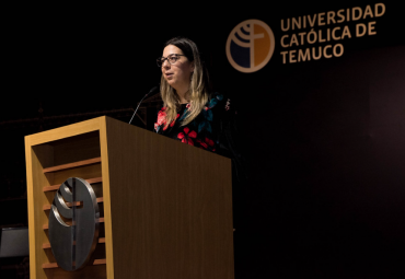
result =
[[[280,55],[281,19],[374,3],[13,10],[2,34],[0,225],[27,222],[23,136],[97,114],[129,120],[128,108],[160,82],[154,60],[164,42],[182,35],[197,43],[215,89],[239,111],[250,179],[234,233],[238,278],[404,278],[400,3],[384,1],[377,35],[336,42],[345,46],[339,58],[284,65]],[[271,27],[276,48],[262,70],[241,73],[225,42],[250,19]],[[112,113],[119,109],[127,111]]]

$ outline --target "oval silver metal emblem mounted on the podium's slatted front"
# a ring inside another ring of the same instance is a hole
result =
[[[63,182],[54,197],[48,231],[59,267],[73,271],[88,264],[97,244],[99,222],[99,205],[90,184],[77,177]]]

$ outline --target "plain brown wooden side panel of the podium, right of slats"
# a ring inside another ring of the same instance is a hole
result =
[[[230,160],[106,120],[115,277],[233,278]]]

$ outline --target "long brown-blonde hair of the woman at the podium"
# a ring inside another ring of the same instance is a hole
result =
[[[197,45],[185,37],[174,37],[164,44],[164,47],[173,45],[182,49],[185,57],[193,62],[194,72],[189,83],[190,107],[188,114],[182,121],[182,126],[189,124],[202,111],[208,102],[208,72],[201,62]],[[160,92],[163,100],[163,106],[166,108],[166,125],[171,124],[177,116],[177,107],[180,106],[180,98],[176,91],[169,85],[163,74],[160,83]]]

